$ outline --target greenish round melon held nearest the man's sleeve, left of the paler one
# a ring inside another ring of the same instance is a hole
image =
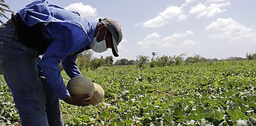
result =
[[[70,92],[70,95],[89,95],[90,97],[84,99],[85,101],[92,97],[95,90],[94,83],[84,76],[71,78],[68,81],[67,89]]]

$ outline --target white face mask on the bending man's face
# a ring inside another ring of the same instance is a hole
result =
[[[91,44],[89,45],[91,47],[91,50],[93,50],[94,52],[106,51],[106,41],[105,41],[106,33],[104,36],[104,40],[102,40],[100,42],[97,42],[97,37],[98,37],[98,33],[97,33],[96,37],[94,37],[94,39],[91,40]]]

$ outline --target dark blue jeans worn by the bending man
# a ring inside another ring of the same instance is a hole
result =
[[[62,126],[59,99],[38,69],[38,51],[18,42],[16,27],[0,26],[0,69],[23,126]]]

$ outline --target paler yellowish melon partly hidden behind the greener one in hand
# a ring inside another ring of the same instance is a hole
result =
[[[92,95],[89,104],[96,105],[99,104],[104,98],[104,90],[99,84],[94,83],[94,95]]]

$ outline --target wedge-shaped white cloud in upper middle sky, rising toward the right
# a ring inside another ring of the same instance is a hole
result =
[[[147,20],[146,22],[142,23],[143,27],[163,27],[171,20],[185,20],[186,15],[183,14],[182,8],[177,6],[170,6],[167,7],[167,9],[163,12],[160,12],[158,16],[155,18],[152,18],[150,20]]]

